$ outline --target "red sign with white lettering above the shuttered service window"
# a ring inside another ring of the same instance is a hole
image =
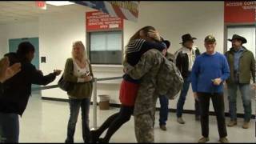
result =
[[[123,28],[123,19],[101,11],[86,12],[86,30],[111,30]]]

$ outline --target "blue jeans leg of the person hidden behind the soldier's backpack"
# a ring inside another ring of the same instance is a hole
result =
[[[166,98],[165,95],[159,96],[160,101],[160,113],[159,113],[159,125],[166,125],[166,121],[168,119],[168,105],[169,105],[169,99]]]

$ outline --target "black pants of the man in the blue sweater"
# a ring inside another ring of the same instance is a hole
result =
[[[223,93],[198,93],[198,98],[201,107],[201,128],[202,136],[209,136],[209,105],[210,98],[213,102],[214,112],[218,122],[218,134],[220,138],[226,137],[226,122],[224,114],[224,98]]]

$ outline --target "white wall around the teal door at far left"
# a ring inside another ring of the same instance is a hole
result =
[[[0,56],[9,51],[9,39],[38,37],[38,21],[0,25]]]

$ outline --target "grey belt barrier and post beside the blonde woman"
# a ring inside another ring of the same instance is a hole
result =
[[[112,77],[112,78],[94,78],[93,82],[94,82],[94,86],[93,86],[93,91],[94,91],[94,96],[93,96],[93,110],[94,110],[94,114],[93,114],[93,128],[92,130],[95,130],[97,128],[97,82],[98,81],[109,81],[109,80],[114,80],[114,79],[119,79],[122,77]],[[54,89],[57,88],[58,85],[52,85],[52,86],[42,86],[42,87],[35,87],[32,89],[32,91],[35,90],[49,90],[49,89]]]

